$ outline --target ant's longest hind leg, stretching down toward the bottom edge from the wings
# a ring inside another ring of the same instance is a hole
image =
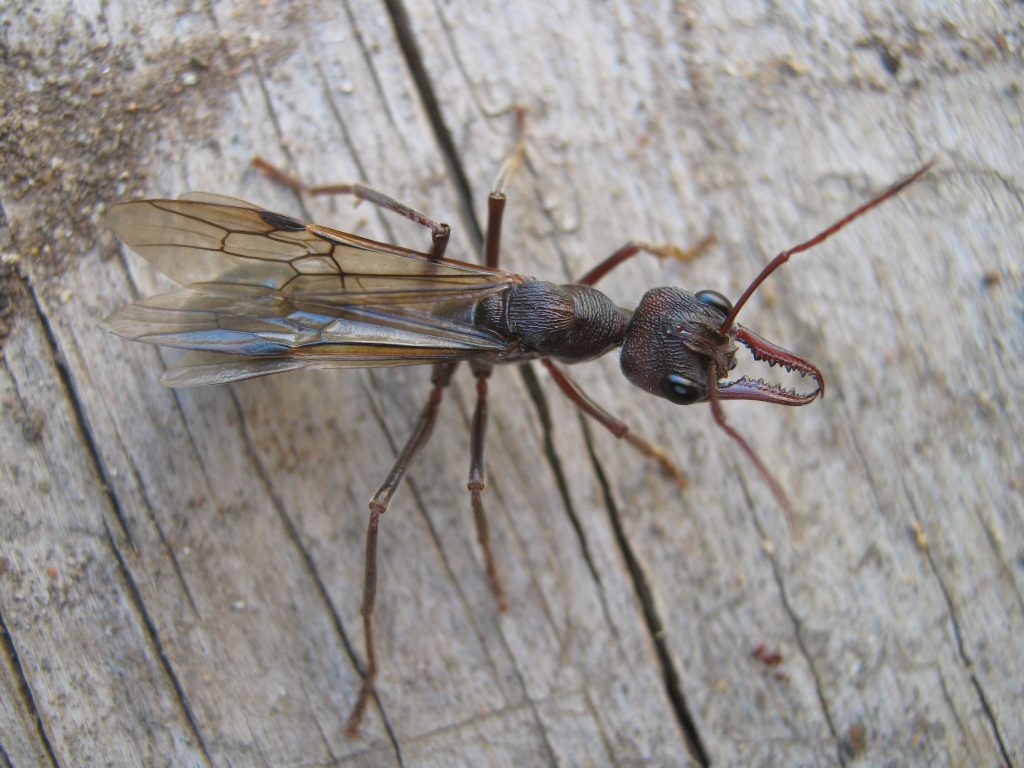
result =
[[[362,685],[359,687],[359,695],[355,699],[355,706],[348,716],[348,724],[345,732],[354,737],[359,730],[359,723],[366,712],[367,703],[370,701],[370,694],[374,691],[374,682],[377,679],[377,651],[374,647],[374,602],[377,598],[377,527],[380,517],[387,511],[391,497],[394,496],[395,488],[401,482],[406,470],[413,463],[417,454],[430,439],[430,433],[434,429],[437,421],[437,409],[440,406],[444,388],[452,381],[452,374],[455,372],[456,362],[438,362],[434,366],[433,375],[430,382],[433,389],[430,390],[430,397],[427,404],[423,407],[420,418],[413,427],[413,433],[409,436],[406,446],[401,450],[398,458],[388,472],[387,478],[370,500],[370,524],[367,527],[367,553],[366,570],[362,579],[362,607],[359,612],[362,614],[362,635],[367,649],[367,672],[362,677]]]

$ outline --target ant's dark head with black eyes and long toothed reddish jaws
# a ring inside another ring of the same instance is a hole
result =
[[[823,391],[824,379],[813,365],[742,326],[727,326],[733,314],[731,302],[716,291],[648,291],[623,342],[623,373],[644,391],[681,406],[712,397],[806,406]],[[751,350],[754,359],[811,377],[816,386],[798,393],[745,376],[724,381],[735,368],[737,341]],[[709,392],[711,386],[715,392]]]

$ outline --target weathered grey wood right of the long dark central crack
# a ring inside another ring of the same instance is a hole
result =
[[[1000,352],[990,376],[996,350],[1021,344],[1019,180],[1007,176],[1020,158],[1019,68],[1012,44],[986,41],[1020,15],[804,12],[522,4],[505,7],[516,22],[504,26],[465,4],[424,10],[414,27],[449,41],[421,49],[450,126],[478,125],[483,105],[534,108],[535,173],[525,190],[513,186],[512,216],[516,199],[540,201],[547,221],[511,233],[512,253],[560,256],[579,274],[630,237],[719,234],[723,247],[685,270],[616,272],[616,296],[667,278],[734,295],[769,249],[939,157],[929,180],[800,257],[773,279],[775,300],[744,312],[811,350],[830,382],[830,396],[801,413],[730,409],[802,511],[800,541],[714,429],[641,406],[612,383],[611,361],[579,376],[698,478],[673,500],[652,470],[593,434],[714,762],[844,760],[858,731],[876,760],[1019,759],[1010,713],[1021,687],[1006,674],[1022,618],[1019,355]],[[486,132],[469,131],[463,155],[483,155],[472,148]],[[566,437],[563,455],[578,456],[580,439]],[[782,650],[783,680],[757,669],[759,643]]]

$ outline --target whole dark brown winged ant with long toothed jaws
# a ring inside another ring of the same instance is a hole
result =
[[[103,327],[137,341],[193,350],[165,372],[169,386],[215,384],[302,368],[364,368],[432,364],[432,389],[413,434],[370,502],[362,622],[367,669],[348,731],[355,734],[373,692],[377,656],[373,609],[377,530],[398,483],[433,429],[444,388],[460,360],[470,362],[477,402],[472,422],[469,492],[489,587],[506,601],[483,513],[483,440],[487,379],[494,365],[540,359],[559,388],[616,437],[658,461],[677,483],[682,471],[591,400],[554,360],[581,362],[622,348],[623,373],[633,384],[672,402],[709,401],[715,420],[743,450],[792,516],[782,488],[746,441],[725,420],[721,400],[754,399],[803,406],[823,392],[810,362],[735,323],[758,286],[790,256],[806,251],[897,194],[922,167],[811,240],[773,259],[733,305],[719,293],[678,288],[648,291],[633,311],[593,286],[637,253],[687,257],[671,246],[630,243],[578,283],[556,286],[498,267],[506,179],[522,155],[503,166],[489,198],[484,266],[443,258],[450,229],[397,201],[358,184],[306,187],[263,161],[268,175],[310,194],[349,194],[430,228],[430,253],[379,243],[233,198],[194,193],[178,200],[114,206],[111,227],[133,250],[183,288],[123,307]],[[745,346],[757,360],[808,377],[798,393],[745,377],[729,381]]]

